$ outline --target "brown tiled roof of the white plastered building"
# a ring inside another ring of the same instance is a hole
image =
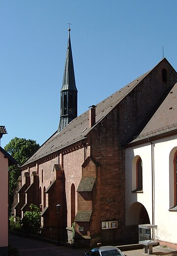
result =
[[[177,84],[133,142],[177,129]]]

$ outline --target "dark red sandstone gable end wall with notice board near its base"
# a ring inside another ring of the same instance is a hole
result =
[[[166,83],[162,82],[164,67],[170,77]],[[149,112],[155,110],[167,88],[176,81],[176,72],[164,60],[90,133],[91,157],[101,164],[100,221],[118,221],[117,229],[101,231],[102,243],[125,238],[125,152],[121,144],[146,121]]]

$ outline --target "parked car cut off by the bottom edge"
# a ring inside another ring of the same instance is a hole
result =
[[[124,254],[114,246],[101,246],[93,248],[89,253],[84,254],[83,256],[124,256]]]

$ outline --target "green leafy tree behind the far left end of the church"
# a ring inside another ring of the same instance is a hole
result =
[[[18,162],[18,166],[12,165],[9,167],[9,200],[10,205],[13,202],[13,193],[17,187],[18,177],[21,175],[20,165],[23,164],[37,149],[39,144],[35,140],[24,138],[13,138],[4,147],[15,160]]]

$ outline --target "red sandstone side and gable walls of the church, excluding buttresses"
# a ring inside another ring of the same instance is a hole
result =
[[[162,82],[161,78],[161,71],[164,67],[168,69],[170,77],[166,83]],[[142,122],[146,121],[148,112],[155,111],[155,105],[159,98],[175,82],[177,82],[177,74],[170,70],[170,65],[164,60],[90,132],[88,135],[88,141],[91,144],[90,154],[94,160],[100,163],[100,167],[96,171],[97,179],[92,191],[92,201],[80,200],[81,198],[78,198],[80,195],[77,193],[82,178],[82,164],[89,156],[89,149],[86,158],[84,148],[78,147],[65,152],[63,160],[59,161],[57,157],[40,163],[37,168],[36,166],[30,168],[30,177],[32,171],[38,172],[39,187],[43,193],[44,187],[47,189],[50,182],[56,178],[56,173],[53,172],[54,164],[63,165],[67,226],[71,226],[71,185],[74,184],[75,213],[77,213],[78,207],[87,210],[88,207],[90,209],[92,207],[93,210],[89,226],[91,237],[99,237],[101,234],[99,242],[109,244],[125,240],[125,154],[121,144],[136,135],[135,131]],[[78,199],[79,204],[77,205]],[[101,230],[102,221],[113,220],[118,221],[118,228]],[[88,228],[88,225],[86,226]]]

